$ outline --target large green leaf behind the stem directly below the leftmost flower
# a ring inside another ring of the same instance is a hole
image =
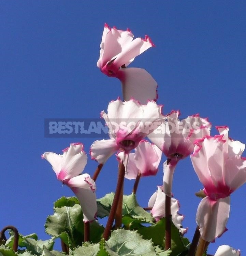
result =
[[[60,238],[71,249],[82,245],[84,241],[84,222],[81,206],[74,204],[54,209],[54,215],[49,215],[45,223],[46,233]],[[97,221],[90,223],[90,241],[98,243],[104,228]]]

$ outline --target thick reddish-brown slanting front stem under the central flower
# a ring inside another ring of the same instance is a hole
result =
[[[121,188],[123,187],[123,184],[124,184],[125,166],[123,164],[123,161],[121,161],[119,169],[120,170],[119,170],[119,175],[118,175],[118,181],[117,181],[117,186],[116,186],[116,190],[115,190],[114,200],[113,200],[113,203],[112,203],[112,206],[111,206],[111,210],[110,210],[110,213],[109,213],[109,216],[108,216],[108,220],[107,220],[105,230],[103,232],[103,238],[105,240],[108,240],[108,237],[110,235],[110,231],[112,229],[114,218],[115,218],[116,209],[117,209],[117,206],[118,206],[118,201],[119,201],[119,197],[120,197]]]

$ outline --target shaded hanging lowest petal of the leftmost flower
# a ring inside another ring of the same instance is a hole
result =
[[[87,183],[88,184],[88,183]],[[90,186],[88,184],[88,186]],[[74,194],[78,197],[79,204],[81,205],[84,222],[93,221],[96,219],[97,213],[97,198],[96,193],[90,189],[72,187]]]

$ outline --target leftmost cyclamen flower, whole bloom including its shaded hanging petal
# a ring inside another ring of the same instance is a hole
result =
[[[63,150],[62,155],[45,152],[42,158],[52,165],[57,179],[71,188],[78,197],[84,215],[83,221],[93,221],[97,213],[96,184],[89,174],[81,174],[87,163],[83,144],[71,143],[70,147]]]

